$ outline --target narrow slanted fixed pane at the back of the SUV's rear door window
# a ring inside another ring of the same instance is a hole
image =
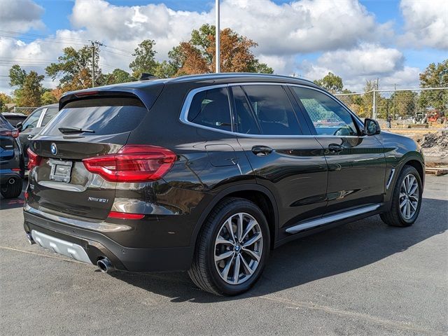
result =
[[[233,99],[235,99],[235,117],[237,132],[244,134],[260,134],[260,128],[255,121],[251,106],[246,99],[241,87],[232,87]]]

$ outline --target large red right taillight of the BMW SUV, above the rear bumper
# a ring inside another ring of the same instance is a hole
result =
[[[83,160],[85,168],[112,182],[156,181],[176,161],[176,154],[167,148],[146,145],[124,146],[116,154]]]

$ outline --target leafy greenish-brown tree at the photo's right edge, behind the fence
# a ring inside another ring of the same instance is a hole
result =
[[[442,63],[429,64],[423,73],[420,73],[420,87],[447,87],[448,86],[448,59]],[[419,106],[423,109],[434,108],[445,113],[448,110],[447,90],[422,91],[419,97]]]

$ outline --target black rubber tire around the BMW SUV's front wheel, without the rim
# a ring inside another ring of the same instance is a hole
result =
[[[418,183],[419,201],[416,206],[415,214],[411,218],[407,219],[402,215],[402,213],[400,211],[400,188],[402,186],[403,181],[405,180],[405,177],[408,176],[409,174],[412,174]],[[387,225],[397,226],[400,228],[404,228],[404,227],[414,224],[414,222],[416,221],[416,219],[420,213],[422,192],[423,192],[423,188],[421,188],[421,178],[420,178],[419,172],[417,172],[416,169],[412,166],[403,167],[402,172],[400,173],[400,176],[398,176],[398,179],[393,188],[391,209],[389,209],[389,211],[384,212],[379,215],[381,217],[381,220],[384,223],[386,223]]]

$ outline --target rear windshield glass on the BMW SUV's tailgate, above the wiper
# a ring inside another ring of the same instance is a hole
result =
[[[92,130],[89,135],[130,132],[144,118],[148,110],[137,97],[94,97],[69,102],[48,123],[44,135],[61,135],[59,127]]]

